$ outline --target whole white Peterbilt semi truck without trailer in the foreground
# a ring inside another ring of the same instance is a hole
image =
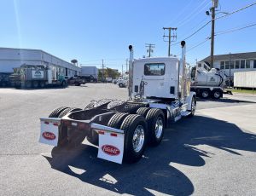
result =
[[[121,164],[142,158],[147,145],[157,146],[164,130],[195,114],[190,92],[185,42],[180,60],[173,57],[133,60],[130,49],[129,100],[91,101],[83,110],[60,107],[40,118],[39,141],[73,147],[84,138],[98,146],[98,158]]]

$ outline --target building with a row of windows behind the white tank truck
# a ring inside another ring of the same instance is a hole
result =
[[[231,78],[234,72],[256,71],[256,52],[214,55],[213,60],[213,68],[224,70]],[[210,66],[210,56],[199,61],[198,66],[203,66],[203,62]]]

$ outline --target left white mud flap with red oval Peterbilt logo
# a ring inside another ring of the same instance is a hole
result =
[[[39,142],[57,147],[61,118],[40,118],[41,131]]]

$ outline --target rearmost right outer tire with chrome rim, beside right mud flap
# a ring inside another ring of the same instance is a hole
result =
[[[137,114],[129,114],[120,130],[125,131],[124,161],[135,163],[142,158],[148,139],[145,118]]]

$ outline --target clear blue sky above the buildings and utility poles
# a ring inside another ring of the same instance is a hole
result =
[[[221,11],[231,12],[253,0],[219,0]],[[154,43],[154,56],[167,55],[163,26],[177,27],[182,40],[210,16],[211,0],[0,0],[0,47],[43,49],[66,61],[119,68],[134,46],[136,58]],[[220,8],[218,8],[220,9]],[[217,14],[220,16],[221,14]],[[216,21],[216,32],[256,23],[256,5]],[[187,49],[210,36],[211,25],[189,38]],[[256,26],[219,35],[215,54],[256,51]],[[179,44],[171,53],[180,54]],[[210,42],[188,51],[190,64],[210,54]]]

